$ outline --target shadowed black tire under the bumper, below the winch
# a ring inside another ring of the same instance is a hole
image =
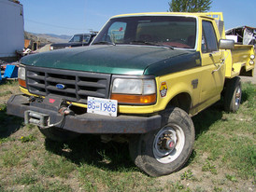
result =
[[[75,139],[79,136],[79,133],[77,132],[63,130],[57,127],[51,127],[48,129],[42,129],[38,127],[38,129],[43,135],[45,135],[47,139],[50,139],[55,142],[65,142],[68,140]]]

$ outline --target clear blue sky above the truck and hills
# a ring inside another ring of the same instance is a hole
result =
[[[211,12],[223,12],[225,29],[256,27],[256,0],[212,0]],[[20,0],[24,29],[36,34],[99,31],[114,15],[166,12],[170,0]]]

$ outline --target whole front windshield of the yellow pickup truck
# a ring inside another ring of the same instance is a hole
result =
[[[195,36],[195,18],[177,16],[123,17],[108,21],[93,44],[165,45],[174,48],[194,48]]]

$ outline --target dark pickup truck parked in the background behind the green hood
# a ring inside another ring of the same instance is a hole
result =
[[[59,48],[76,48],[89,46],[96,34],[74,34],[67,43],[55,43],[50,45],[50,50]]]

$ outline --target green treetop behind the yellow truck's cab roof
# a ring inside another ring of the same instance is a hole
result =
[[[206,12],[210,9],[211,0],[172,0],[169,12]]]

